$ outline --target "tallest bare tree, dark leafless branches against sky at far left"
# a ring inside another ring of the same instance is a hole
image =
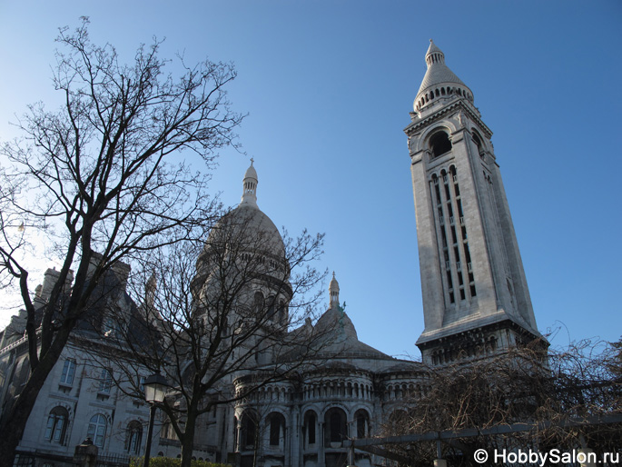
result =
[[[133,65],[121,65],[112,45],[90,42],[87,25],[83,18],[57,38],[62,49],[53,81],[62,108],[31,105],[17,124],[24,138],[1,150],[11,165],[0,180],[0,281],[21,293],[31,368],[2,414],[4,460],[13,458],[36,396],[98,279],[115,263],[132,263],[212,219],[208,176],[193,169],[193,159],[209,167],[219,148],[233,144],[242,120],[224,90],[236,76],[232,65],[187,66],[180,59],[181,73],[166,75],[157,41],[141,46]],[[44,234],[62,263],[50,305],[39,310],[20,256],[32,231]],[[89,271],[94,252],[101,257]],[[73,292],[55,313],[72,271]]]

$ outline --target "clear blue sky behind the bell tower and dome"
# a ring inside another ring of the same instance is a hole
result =
[[[214,192],[237,204],[254,157],[262,211],[326,233],[319,266],[360,340],[393,355],[419,355],[423,331],[402,130],[433,38],[494,133],[539,330],[561,328],[558,345],[622,334],[618,0],[0,0],[0,139],[26,104],[58,102],[54,37],[82,15],[127,61],[157,36],[163,56],[235,63],[247,155],[222,154]]]

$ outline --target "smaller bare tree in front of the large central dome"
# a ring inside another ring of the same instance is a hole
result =
[[[325,275],[311,262],[323,235],[285,235],[283,242],[258,215],[233,210],[206,241],[177,243],[144,262],[133,274],[134,295],[144,287],[141,316],[128,323],[121,314],[117,337],[103,335],[124,352],[111,354],[105,345],[91,350],[114,362],[117,385],[130,388],[129,395],[140,393],[136,374],[144,369],[165,375],[171,390],[160,408],[181,443],[183,466],[192,460],[203,414],[290,377],[326,343],[311,326],[316,285]],[[252,374],[252,383],[236,392],[233,380],[244,374]]]

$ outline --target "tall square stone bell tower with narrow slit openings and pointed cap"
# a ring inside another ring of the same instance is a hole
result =
[[[495,353],[538,333],[508,201],[473,93],[430,40],[405,128],[417,215],[425,363]]]

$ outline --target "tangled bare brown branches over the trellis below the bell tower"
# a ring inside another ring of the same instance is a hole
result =
[[[409,465],[429,465],[438,456],[433,439],[440,439],[431,434],[445,432],[452,435],[443,457],[456,464],[473,464],[478,449],[615,452],[622,424],[602,420],[622,413],[622,385],[607,369],[608,350],[597,349],[583,342],[546,358],[541,349],[512,349],[429,367],[421,392],[406,399],[408,410],[396,411],[381,433],[420,436],[385,448]]]

